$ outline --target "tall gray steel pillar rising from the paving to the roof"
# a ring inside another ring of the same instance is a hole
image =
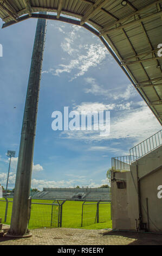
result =
[[[46,13],[42,12],[42,14]],[[22,123],[11,225],[7,236],[30,235],[28,230],[30,218],[29,196],[46,29],[46,19],[38,19]]]

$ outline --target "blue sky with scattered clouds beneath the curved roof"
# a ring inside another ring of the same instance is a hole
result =
[[[1,29],[0,183],[14,187],[25,95],[36,19]],[[0,22],[2,27],[2,21]],[[54,111],[110,111],[111,132],[54,131]],[[14,108],[16,107],[16,108]],[[120,66],[85,28],[48,21],[35,137],[31,187],[98,187],[107,184],[111,157],[128,155],[133,145],[161,126]]]

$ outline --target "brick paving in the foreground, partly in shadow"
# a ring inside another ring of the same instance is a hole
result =
[[[22,239],[0,237],[0,245],[162,245],[162,234],[73,228],[33,229],[31,233]]]

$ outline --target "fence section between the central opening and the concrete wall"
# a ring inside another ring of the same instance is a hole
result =
[[[111,202],[83,202],[81,227],[111,220]]]

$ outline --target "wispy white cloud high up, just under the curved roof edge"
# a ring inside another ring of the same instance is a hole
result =
[[[109,58],[112,58],[106,47],[103,46],[100,41],[98,44],[87,44],[86,42],[85,44],[82,43],[78,45],[77,39],[81,36],[78,31],[81,29],[81,27],[72,26],[72,30],[66,32],[66,29],[59,28],[61,32],[65,33],[61,47],[64,52],[68,53],[69,57],[62,59],[65,63],[59,64],[58,68],[44,70],[42,71],[42,74],[51,73],[52,75],[60,76],[63,72],[70,73],[74,71],[74,74],[70,79],[70,81],[72,81],[75,78],[84,75],[90,67],[99,65],[102,60],[105,59],[106,55],[109,55]]]

